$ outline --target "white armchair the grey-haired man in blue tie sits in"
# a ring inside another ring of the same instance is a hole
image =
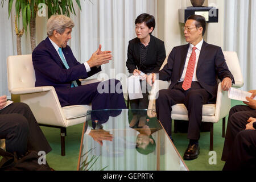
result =
[[[11,94],[19,95],[20,102],[30,106],[40,126],[60,128],[61,155],[65,155],[67,127],[86,121],[90,105],[61,107],[53,86],[35,87],[35,71],[31,55],[7,58],[8,85]],[[98,80],[89,80],[89,83]],[[86,85],[86,81],[82,82]]]

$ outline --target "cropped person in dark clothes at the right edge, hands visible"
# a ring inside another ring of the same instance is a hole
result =
[[[229,111],[228,127],[221,160],[224,171],[256,168],[256,90],[250,90],[246,105],[237,105]]]

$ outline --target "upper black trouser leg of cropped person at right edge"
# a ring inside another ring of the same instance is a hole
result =
[[[248,123],[247,120],[250,117],[256,118],[256,110],[251,109],[249,106],[238,105],[230,109],[228,126],[226,129],[226,138],[224,142],[221,160],[228,160],[230,152],[232,152],[234,139],[236,138],[238,133],[245,130]]]

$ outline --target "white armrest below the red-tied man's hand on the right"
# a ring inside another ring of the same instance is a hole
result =
[[[218,84],[217,99],[216,99],[216,110],[215,117],[216,121],[225,118],[229,114],[231,109],[231,100],[228,97],[228,92],[223,91],[221,83]]]

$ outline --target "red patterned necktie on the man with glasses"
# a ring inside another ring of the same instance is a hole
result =
[[[196,47],[193,47],[192,49],[193,49],[193,51],[192,51],[191,56],[189,58],[186,75],[185,75],[185,78],[184,78],[184,81],[183,81],[183,84],[182,84],[182,88],[184,90],[188,90],[188,89],[191,88],[192,78],[193,78],[194,71],[195,71]]]

